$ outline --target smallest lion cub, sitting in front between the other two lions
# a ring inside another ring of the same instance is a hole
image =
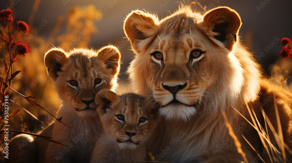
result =
[[[102,90],[95,96],[104,133],[96,141],[91,163],[144,161],[146,147],[143,145],[156,127],[156,105],[152,97],[126,93],[118,96]]]

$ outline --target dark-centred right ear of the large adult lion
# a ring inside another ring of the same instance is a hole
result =
[[[208,11],[204,15],[203,22],[199,23],[199,27],[208,36],[223,42],[230,51],[237,41],[240,26],[239,14],[229,7],[218,7]]]

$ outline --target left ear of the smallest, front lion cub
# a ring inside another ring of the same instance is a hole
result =
[[[113,91],[110,91],[108,89],[103,89],[99,91],[95,95],[95,104],[97,105],[98,113],[100,115],[106,114],[107,110],[110,109],[110,105],[117,100],[118,95],[114,93]]]

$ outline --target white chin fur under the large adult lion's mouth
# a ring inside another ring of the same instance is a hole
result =
[[[159,114],[168,120],[183,120],[188,121],[197,113],[195,107],[186,106],[183,104],[169,105],[159,108]]]

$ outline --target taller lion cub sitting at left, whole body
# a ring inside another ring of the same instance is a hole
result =
[[[116,88],[120,58],[119,50],[111,45],[98,51],[74,49],[65,52],[61,48],[48,50],[44,59],[45,66],[62,100],[57,117],[63,117],[62,122],[72,128],[54,122],[39,134],[53,137],[67,147],[35,138],[35,141],[29,143],[34,148],[15,148],[13,156],[23,158],[33,155],[34,158],[15,162],[36,162],[35,155],[38,157],[37,162],[89,162],[95,140],[103,130],[94,97],[102,89]],[[20,135],[17,139],[12,139],[12,142],[17,146],[26,137],[28,136]],[[28,149],[36,149],[38,153],[26,153],[29,152]]]

